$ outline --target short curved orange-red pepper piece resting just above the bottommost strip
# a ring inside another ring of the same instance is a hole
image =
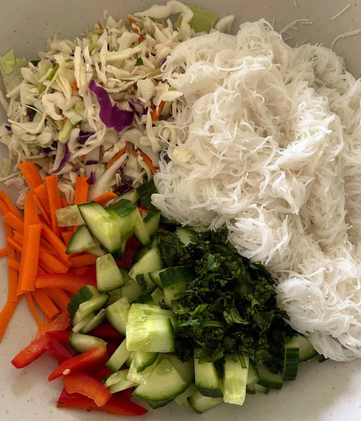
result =
[[[68,393],[80,393],[94,400],[96,405],[104,406],[112,397],[109,390],[100,381],[82,371],[75,371],[63,376],[64,389]]]

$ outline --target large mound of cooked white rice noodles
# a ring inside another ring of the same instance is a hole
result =
[[[226,224],[318,352],[361,357],[361,81],[263,19],[179,44],[164,79],[184,96],[153,203],[184,225]]]

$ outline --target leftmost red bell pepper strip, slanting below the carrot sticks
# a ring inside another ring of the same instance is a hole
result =
[[[41,357],[46,351],[45,346],[51,341],[47,332],[53,330],[66,329],[69,326],[69,313],[62,312],[60,316],[55,319],[48,327],[46,327],[40,335],[35,336],[30,344],[24,348],[15,358],[11,361],[16,368],[24,368],[31,364],[33,361]]]

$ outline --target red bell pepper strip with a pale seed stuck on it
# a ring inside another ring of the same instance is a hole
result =
[[[71,360],[64,361],[56,368],[48,377],[48,381],[52,381],[63,375],[65,370],[94,370],[99,366],[104,365],[109,360],[107,348],[105,346],[98,346],[91,349],[91,351],[84,352],[84,354],[77,355]]]

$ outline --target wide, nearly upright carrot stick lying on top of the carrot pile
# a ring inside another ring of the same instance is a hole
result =
[[[35,276],[40,253],[41,225],[28,225],[24,232],[23,253],[21,255],[22,271],[20,285],[23,291],[35,290]]]

